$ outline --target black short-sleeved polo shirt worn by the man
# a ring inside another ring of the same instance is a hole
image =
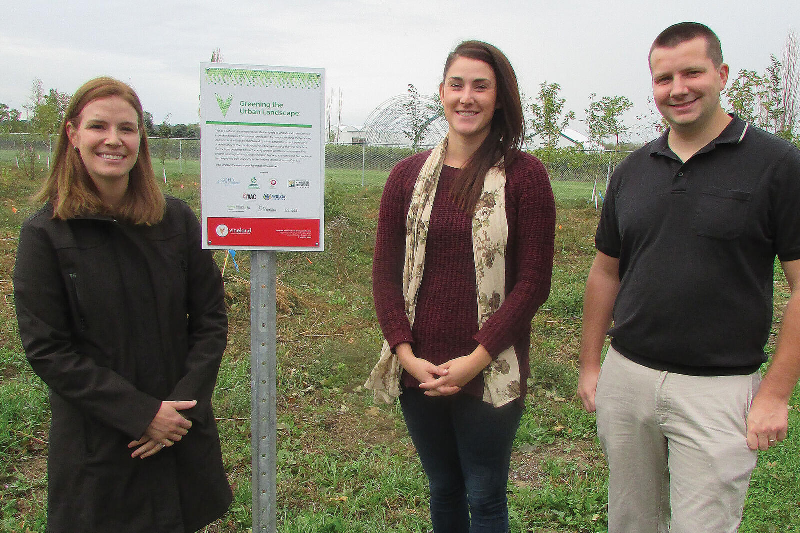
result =
[[[664,134],[614,171],[595,244],[619,258],[622,355],[750,374],[766,362],[775,257],[800,259],[800,150],[734,116],[684,164]]]

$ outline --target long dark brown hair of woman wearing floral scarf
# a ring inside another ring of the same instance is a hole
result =
[[[494,110],[489,135],[478,150],[472,154],[466,166],[454,181],[450,195],[466,213],[471,213],[483,190],[483,179],[492,166],[505,158],[503,165],[509,166],[522,148],[525,138],[525,119],[522,117],[522,99],[519,96],[517,74],[506,54],[497,47],[482,41],[465,41],[447,56],[443,80],[447,70],[458,58],[477,59],[485,62],[494,71],[498,85],[498,109]]]

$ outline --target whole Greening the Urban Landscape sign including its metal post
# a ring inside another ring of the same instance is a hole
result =
[[[275,252],[325,250],[325,70],[202,63],[200,109],[203,248],[252,250],[253,532],[276,533]]]

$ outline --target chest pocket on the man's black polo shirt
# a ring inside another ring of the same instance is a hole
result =
[[[750,193],[704,186],[694,210],[694,230],[701,237],[731,240],[746,226]]]

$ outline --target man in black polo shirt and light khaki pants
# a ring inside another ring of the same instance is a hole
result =
[[[609,462],[610,533],[737,531],[800,376],[800,150],[722,110],[706,26],[664,30],[650,71],[670,130],[611,179],[578,394]],[[762,381],[776,255],[792,295]]]

